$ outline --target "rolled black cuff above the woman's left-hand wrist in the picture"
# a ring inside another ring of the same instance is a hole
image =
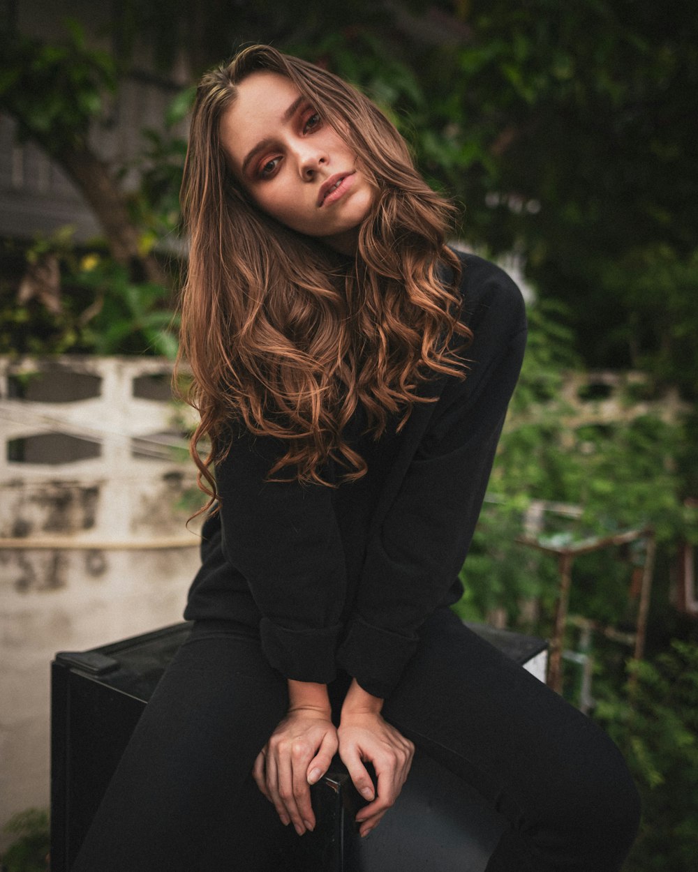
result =
[[[326,685],[336,677],[341,624],[320,630],[287,630],[263,617],[259,630],[265,656],[285,678]]]

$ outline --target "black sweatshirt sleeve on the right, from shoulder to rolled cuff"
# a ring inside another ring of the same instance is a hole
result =
[[[386,698],[468,553],[526,342],[524,303],[503,274],[476,318],[468,377],[448,378],[390,508],[369,539],[338,664]]]

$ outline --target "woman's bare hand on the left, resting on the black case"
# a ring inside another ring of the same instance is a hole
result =
[[[299,706],[289,710],[257,755],[252,768],[257,787],[298,835],[315,828],[310,785],[325,774],[338,746],[329,708]]]

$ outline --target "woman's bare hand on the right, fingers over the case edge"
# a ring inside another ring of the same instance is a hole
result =
[[[366,800],[373,800],[356,815],[360,835],[368,835],[398,798],[407,780],[414,745],[382,718],[380,712],[352,712],[342,709],[339,723],[339,756]],[[371,762],[378,776],[378,792],[366,771]]]

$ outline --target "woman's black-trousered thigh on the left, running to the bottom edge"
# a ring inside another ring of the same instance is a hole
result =
[[[264,850],[286,831],[250,770],[287,701],[257,639],[195,628],[133,732],[74,872],[266,869]],[[261,845],[250,840],[260,830]]]

